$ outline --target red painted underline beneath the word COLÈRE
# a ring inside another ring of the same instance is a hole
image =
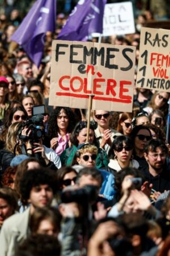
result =
[[[70,97],[75,97],[75,98],[88,98],[88,95],[85,94],[76,94],[76,93],[62,93],[62,92],[57,92],[57,96],[70,96]],[[131,100],[126,100],[126,99],[121,99],[121,98],[106,98],[106,97],[100,97],[100,96],[94,96],[93,100],[99,100],[99,101],[114,101],[114,102],[121,102],[121,103],[126,103],[129,104],[131,103]]]

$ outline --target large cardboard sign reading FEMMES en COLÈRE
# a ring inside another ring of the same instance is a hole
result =
[[[49,105],[131,112],[135,47],[54,40]]]

